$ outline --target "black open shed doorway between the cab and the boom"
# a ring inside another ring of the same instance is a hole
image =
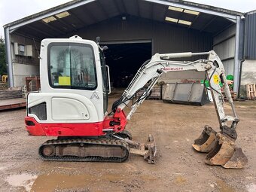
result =
[[[127,87],[143,62],[151,59],[151,41],[102,44],[108,46],[105,61],[110,69],[111,87]]]

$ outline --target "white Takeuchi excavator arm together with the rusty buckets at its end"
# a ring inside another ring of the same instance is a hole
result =
[[[173,59],[191,57],[191,56],[207,56],[206,59],[198,59],[196,61],[174,61]],[[200,152],[209,152],[206,157],[206,163],[210,165],[221,165],[225,168],[239,169],[245,166],[247,158],[242,153],[241,148],[236,148],[236,126],[239,118],[233,105],[233,99],[224,74],[224,66],[218,55],[212,50],[205,53],[156,53],[151,60],[145,62],[136,73],[129,86],[124,90],[123,95],[112,105],[112,111],[123,110],[131,100],[134,99],[136,93],[141,91],[142,87],[151,80],[148,88],[136,102],[133,102],[126,120],[130,120],[136,109],[148,96],[154,84],[157,83],[160,76],[166,72],[182,72],[197,71],[206,72],[206,78],[209,81],[209,89],[211,90],[215,110],[218,116],[220,132],[217,133],[211,127],[205,126],[201,136],[195,140],[194,149]],[[221,93],[219,83],[224,84],[224,93],[227,101],[232,108],[232,114],[227,115],[224,111],[224,96]],[[153,138],[151,136],[151,138]],[[154,141],[154,139],[152,139]],[[152,155],[153,156],[153,155]]]

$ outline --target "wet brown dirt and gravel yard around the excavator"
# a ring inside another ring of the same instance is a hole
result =
[[[125,163],[44,162],[38,147],[49,138],[28,136],[26,110],[0,112],[0,191],[256,191],[256,102],[236,102],[236,110],[241,120],[236,145],[248,157],[239,170],[208,166],[206,154],[191,147],[205,124],[218,130],[212,104],[142,104],[126,129],[140,142],[154,135],[156,165],[134,155]]]

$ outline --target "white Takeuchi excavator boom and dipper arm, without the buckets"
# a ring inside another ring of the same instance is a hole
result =
[[[199,55],[207,55],[208,59],[199,59],[194,62],[181,62],[170,60],[175,58],[184,58]],[[125,108],[128,103],[133,99],[135,94],[138,93],[138,90],[141,90],[142,87],[144,87],[145,84],[151,80],[151,83],[142,94],[141,98],[132,105],[131,111],[126,117],[127,120],[130,120],[133,113],[136,111],[139,105],[142,104],[142,102],[148,96],[148,93],[150,93],[151,89],[154,87],[154,84],[157,83],[163,73],[183,71],[206,72],[220,126],[226,125],[227,121],[239,121],[236,115],[235,108],[233,106],[233,100],[231,98],[228,86],[224,86],[224,91],[227,96],[228,102],[230,102],[230,105],[233,109],[233,116],[227,116],[224,112],[224,98],[221,93],[221,87],[219,86],[219,82],[221,81],[222,84],[226,85],[227,80],[224,75],[224,66],[218,55],[213,50],[205,53],[187,52],[155,54],[154,56],[152,56],[152,59],[150,61],[146,62],[144,65],[141,66],[136,76],[133,78],[133,81],[131,81],[126,90],[124,90],[121,98],[114,103],[113,108]]]

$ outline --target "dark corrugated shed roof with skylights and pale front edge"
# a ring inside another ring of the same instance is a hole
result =
[[[187,29],[197,29],[201,32],[210,32],[212,34],[219,32],[232,23],[232,21],[224,17],[206,14],[206,12],[193,15],[184,13],[185,8],[182,9],[183,12],[172,11],[168,9],[168,2],[174,3],[175,6],[190,6],[191,10],[193,8],[203,8],[203,10],[215,11],[216,14],[220,12],[234,16],[241,14],[236,11],[177,0],[75,0],[13,23],[8,23],[4,27],[10,27],[11,32],[26,34],[28,37],[40,40],[68,35],[71,32],[77,32],[104,20],[126,15],[168,23],[169,25],[179,25]],[[68,11],[70,15],[57,18],[56,14],[61,11]],[[45,17],[55,17],[56,20],[45,23],[42,21]],[[166,22],[166,17],[189,21],[191,25],[186,26],[181,23]]]

